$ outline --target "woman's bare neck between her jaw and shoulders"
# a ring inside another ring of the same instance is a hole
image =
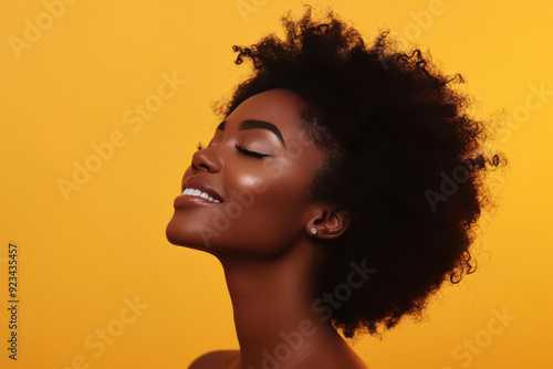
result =
[[[237,368],[294,367],[319,348],[343,341],[312,309],[320,253],[305,241],[271,260],[219,257],[240,344]]]

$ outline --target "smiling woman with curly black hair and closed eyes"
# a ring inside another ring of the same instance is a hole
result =
[[[371,48],[332,11],[234,46],[253,76],[182,178],[168,240],[222,264],[239,350],[201,368],[367,368],[344,338],[422,312],[473,272],[484,127],[418,50]],[[461,80],[462,81],[462,80]]]

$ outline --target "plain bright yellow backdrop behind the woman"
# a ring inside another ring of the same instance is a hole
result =
[[[83,357],[90,368],[186,368],[206,351],[238,348],[220,264],[170,245],[165,226],[197,141],[215,129],[211,103],[248,73],[231,46],[282,35],[280,15],[299,17],[301,1],[73,2],[52,24],[41,1],[0,4],[1,367],[77,368]],[[237,3],[244,2],[243,15]],[[482,223],[479,271],[442,289],[426,321],[407,320],[382,341],[367,336],[355,350],[373,369],[551,368],[553,96],[540,99],[531,86],[553,91],[553,6],[310,3],[333,6],[366,38],[386,27],[430,48],[446,73],[463,74],[476,113],[518,119],[499,145],[510,169],[499,211]],[[24,40],[25,20],[38,18],[42,34],[15,52],[11,36]],[[186,84],[134,131],[124,115],[174,73]],[[66,201],[59,180],[71,181],[74,162],[116,131],[125,144]],[[9,242],[20,257],[17,362],[7,350]],[[125,298],[148,306],[133,323]],[[493,310],[502,309],[515,318],[491,335]],[[124,331],[95,356],[85,340],[109,325]],[[484,347],[467,366],[467,354],[455,351],[474,340]]]

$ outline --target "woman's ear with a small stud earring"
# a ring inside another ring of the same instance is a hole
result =
[[[328,204],[313,204],[310,215],[305,230],[309,235],[317,239],[336,239],[341,236],[352,221],[346,209]],[[312,228],[316,229],[315,234],[311,232]]]

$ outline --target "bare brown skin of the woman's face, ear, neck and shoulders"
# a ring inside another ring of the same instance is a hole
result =
[[[268,354],[278,358],[280,369],[367,368],[312,309],[317,298],[313,286],[323,261],[317,239],[338,238],[349,219],[343,209],[326,203],[295,207],[324,159],[304,135],[302,104],[286,89],[250,97],[219,126],[209,146],[194,154],[185,171],[184,181],[201,178],[223,201],[176,208],[167,239],[211,253],[221,262],[240,344],[240,350],[199,357],[190,369],[272,368]],[[281,137],[267,126],[239,129],[247,119],[271,123]],[[247,155],[236,144],[268,156]],[[246,192],[253,200],[236,215],[228,207],[233,203],[236,210],[239,193]],[[229,222],[218,226],[213,223],[217,217]],[[316,234],[310,231],[313,226]],[[295,337],[298,345],[286,344],[282,335]]]

